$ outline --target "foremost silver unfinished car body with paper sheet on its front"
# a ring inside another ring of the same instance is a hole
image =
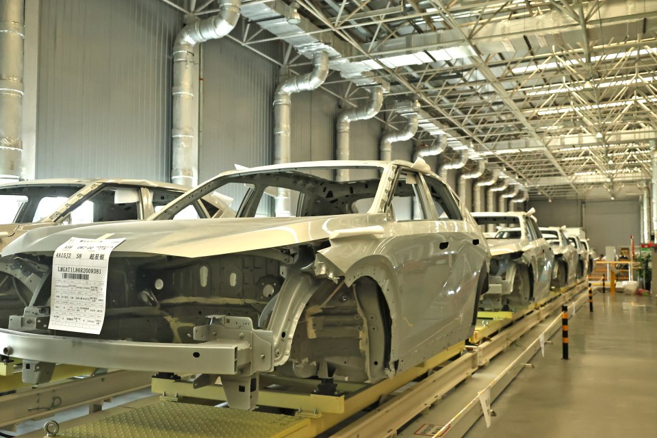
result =
[[[355,177],[332,181],[337,170]],[[216,191],[233,198],[237,218],[167,220]],[[125,241],[110,257],[101,335],[44,329],[55,248],[110,233]],[[420,159],[224,172],[151,220],[38,229],[3,256],[41,284],[0,330],[5,355],[40,370],[74,363],[220,376],[229,405],[252,409],[260,372],[374,382],[467,339],[490,253]]]

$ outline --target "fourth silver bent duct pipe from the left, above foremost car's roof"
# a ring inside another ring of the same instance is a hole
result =
[[[351,122],[356,120],[368,120],[381,110],[383,105],[383,87],[373,86],[364,87],[368,90],[370,97],[363,105],[345,110],[337,116],[337,148],[335,150],[336,159],[349,159],[350,142],[349,128]],[[335,175],[337,181],[348,181],[349,170],[339,169]]]

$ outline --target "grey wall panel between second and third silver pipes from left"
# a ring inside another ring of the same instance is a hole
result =
[[[277,75],[276,64],[228,38],[203,43],[199,181],[235,164],[272,163]]]

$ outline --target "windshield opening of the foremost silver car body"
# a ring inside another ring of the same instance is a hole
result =
[[[209,193],[220,196],[240,218],[335,216],[370,210],[383,168],[355,166],[350,168],[348,181],[329,179],[333,170],[337,168],[289,168],[220,176],[180,196],[153,220],[169,219]]]

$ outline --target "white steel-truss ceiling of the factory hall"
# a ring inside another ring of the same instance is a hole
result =
[[[655,0],[251,0],[229,38],[292,71],[329,51],[324,88],[348,83],[344,105],[365,98],[357,86],[389,83],[385,99],[422,105],[417,140],[446,133],[534,199],[613,198],[650,179],[656,18]],[[264,49],[275,40],[280,55]]]

